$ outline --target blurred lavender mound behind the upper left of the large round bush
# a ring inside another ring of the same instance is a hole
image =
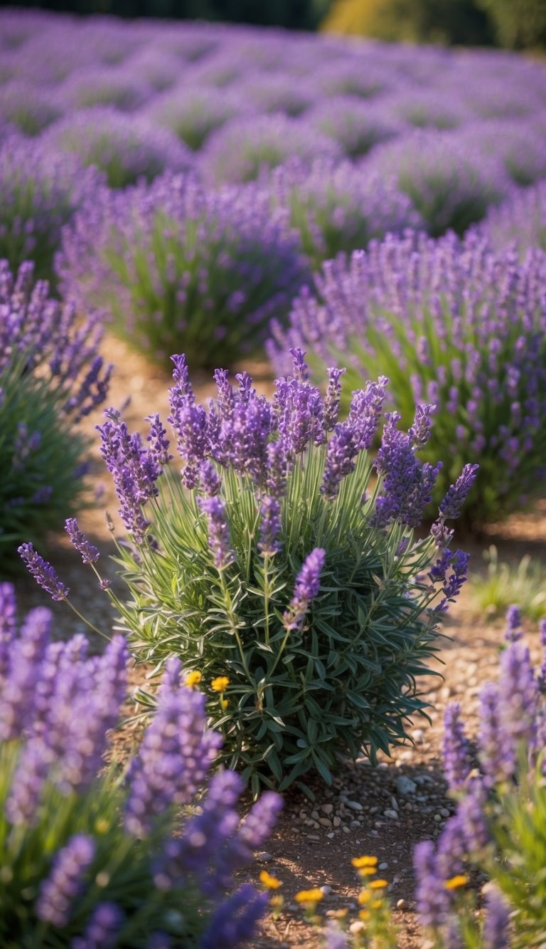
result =
[[[96,106],[68,116],[44,137],[52,151],[75,155],[83,167],[104,172],[111,188],[125,188],[140,177],[148,181],[169,170],[189,171],[189,149],[167,129],[145,119]]]

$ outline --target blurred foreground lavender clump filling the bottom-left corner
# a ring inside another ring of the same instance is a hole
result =
[[[250,939],[266,897],[233,874],[263,844],[280,799],[265,792],[240,824],[243,782],[229,771],[207,778],[221,739],[176,660],[130,765],[98,777],[126,693],[126,645],[118,636],[88,658],[82,636],[50,641],[49,610],[31,610],[18,628],[15,607],[1,584],[2,945],[213,949]]]

